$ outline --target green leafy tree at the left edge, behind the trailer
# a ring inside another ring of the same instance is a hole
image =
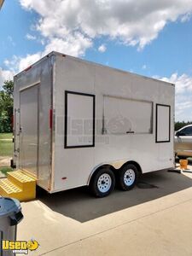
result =
[[[12,131],[14,82],[5,81],[0,91],[0,132]]]

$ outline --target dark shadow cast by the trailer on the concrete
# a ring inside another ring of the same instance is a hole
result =
[[[144,174],[135,189],[115,189],[108,197],[98,199],[90,195],[88,188],[71,189],[52,195],[38,191],[38,200],[55,212],[69,218],[86,222],[106,214],[170,195],[192,186],[191,178],[173,172],[150,172]]]

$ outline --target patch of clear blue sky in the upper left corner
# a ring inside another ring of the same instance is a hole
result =
[[[38,49],[43,49],[41,44],[26,39],[26,34],[31,31],[32,24],[38,19],[35,12],[21,9],[17,0],[6,0],[0,13],[0,65],[5,59],[13,55],[32,54]],[[36,34],[36,32],[33,32]],[[11,39],[10,39],[11,38]]]

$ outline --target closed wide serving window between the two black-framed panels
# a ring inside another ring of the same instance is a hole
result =
[[[104,96],[103,102],[103,132],[153,133],[153,102],[118,96]]]

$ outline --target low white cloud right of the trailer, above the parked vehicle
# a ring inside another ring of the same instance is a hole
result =
[[[185,73],[181,76],[173,73],[170,78],[161,78],[161,80],[173,83],[176,86],[176,120],[192,121],[192,77]]]

